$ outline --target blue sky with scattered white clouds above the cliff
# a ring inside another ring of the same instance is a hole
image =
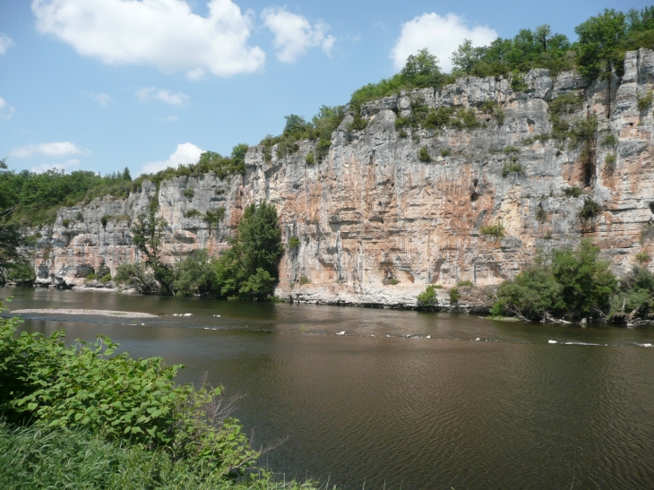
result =
[[[0,0],[0,159],[9,168],[130,168],[229,155],[397,73],[523,28],[574,27],[641,0]]]

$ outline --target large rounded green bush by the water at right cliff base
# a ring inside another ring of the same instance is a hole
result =
[[[539,257],[515,279],[504,281],[492,313],[540,320],[548,314],[578,317],[607,312],[617,287],[608,266],[589,239],[575,250],[555,250],[551,257]]]

